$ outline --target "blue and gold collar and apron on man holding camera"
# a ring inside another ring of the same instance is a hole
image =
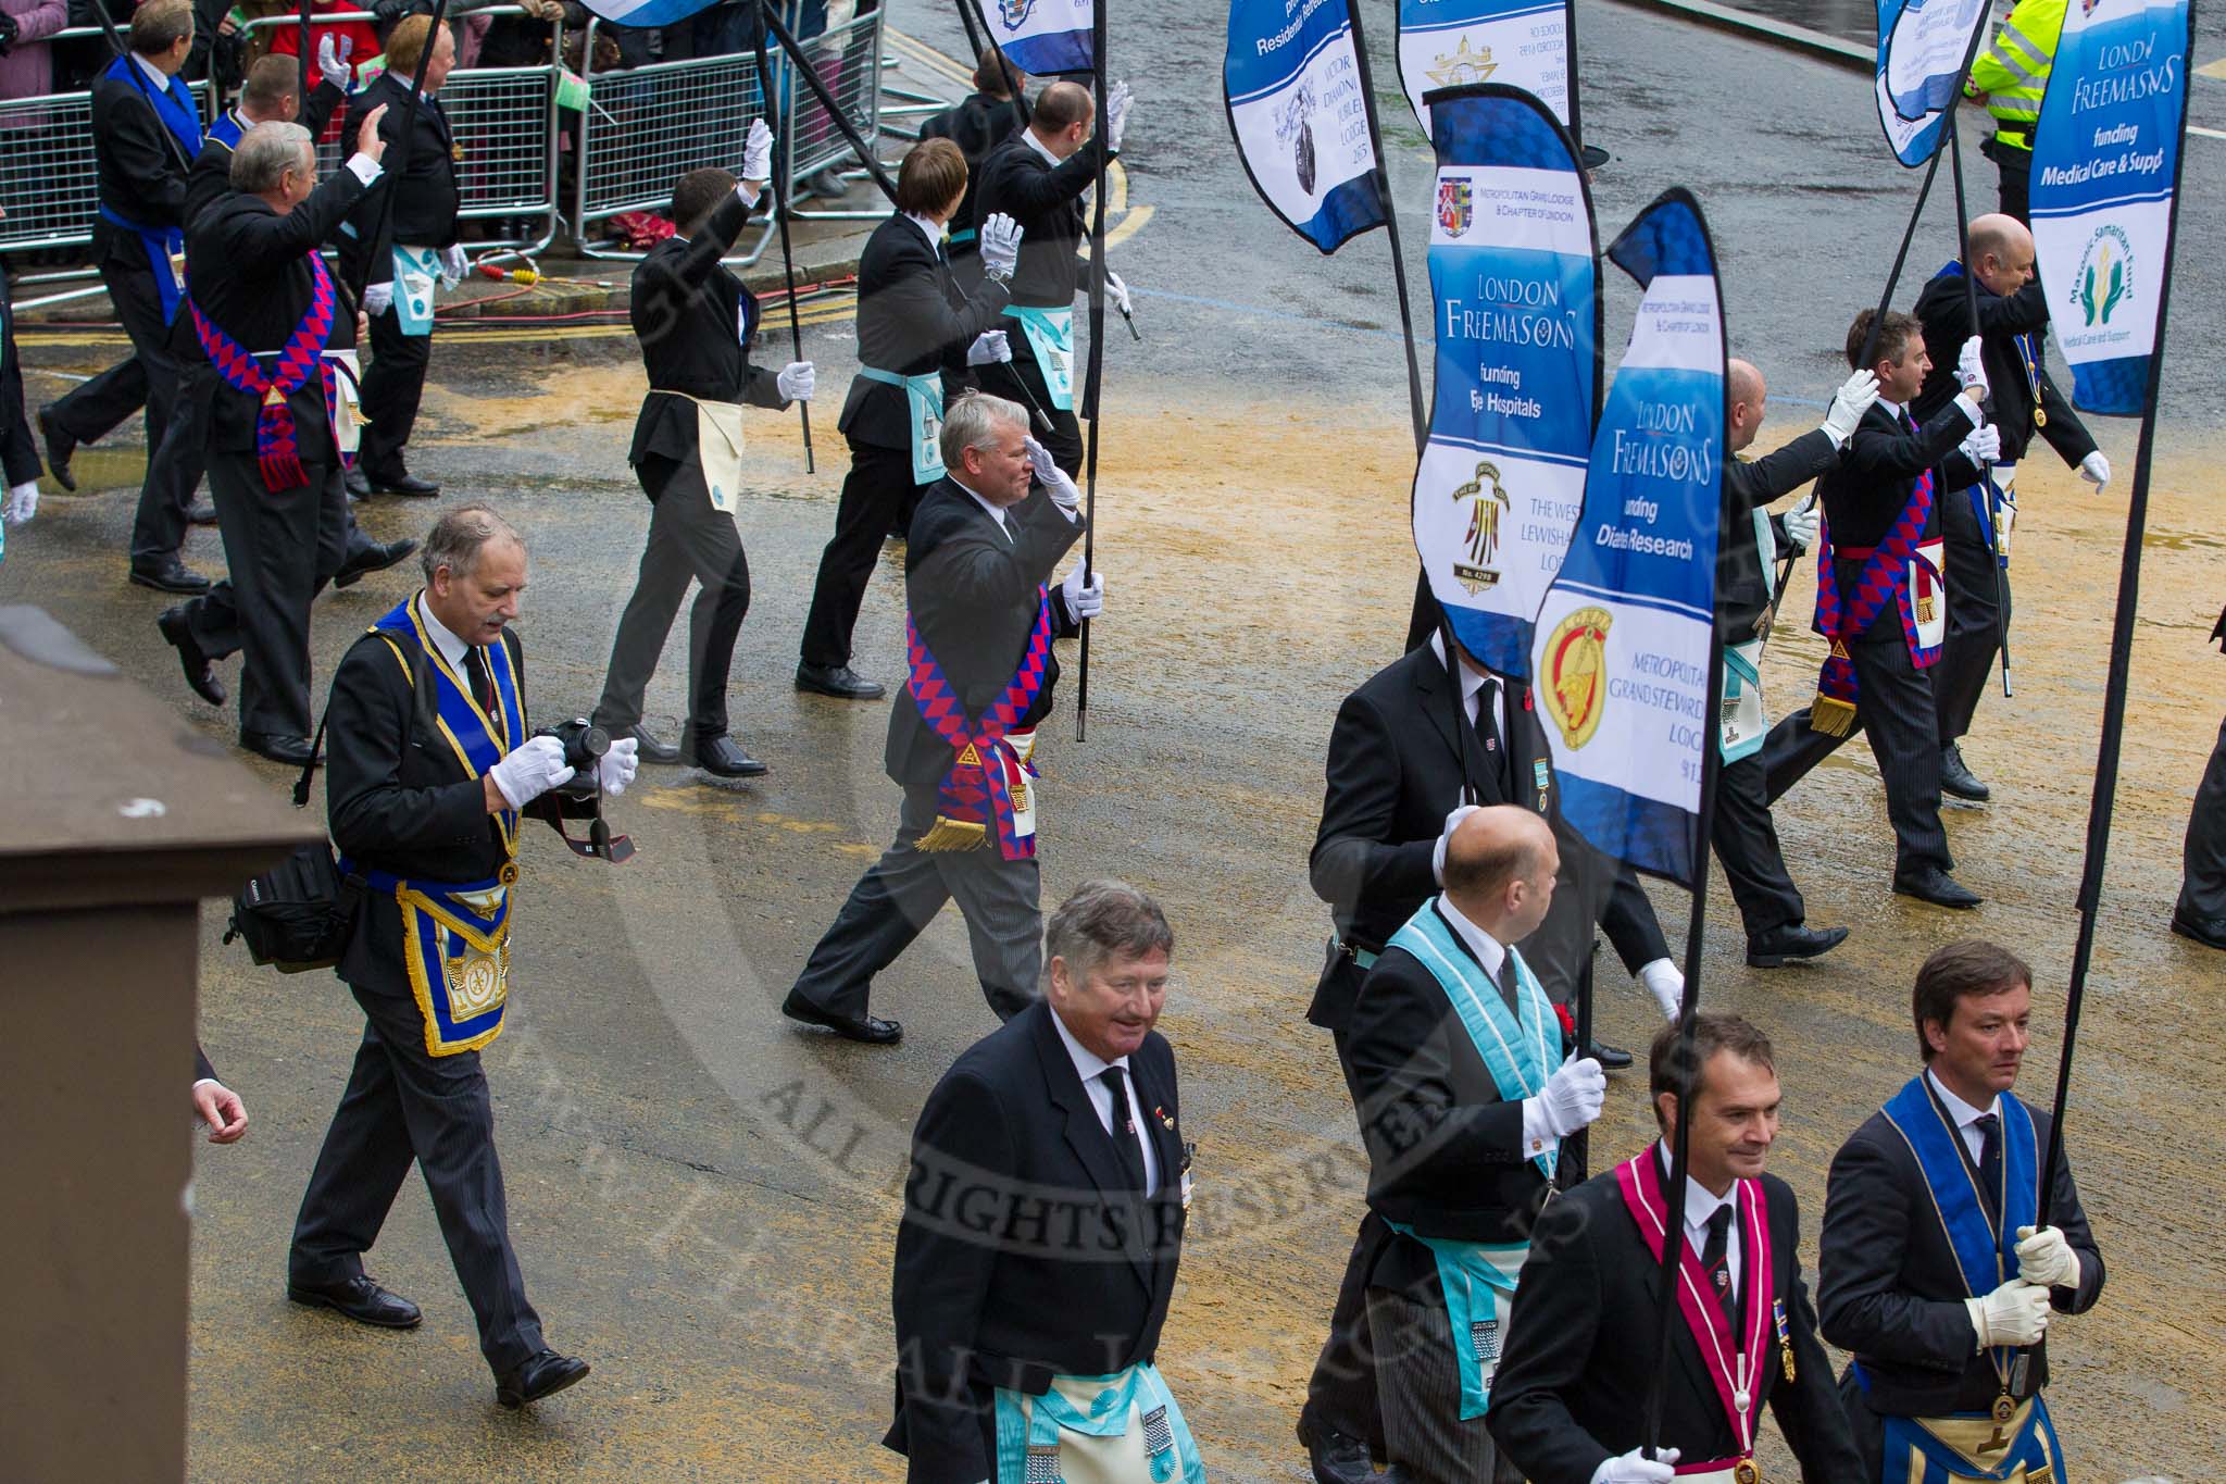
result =
[[[510,667],[510,645],[483,650],[494,679],[494,714],[481,710],[472,687],[459,676],[418,621],[416,598],[403,598],[372,632],[394,650],[394,663],[416,685],[412,647],[425,656],[432,676],[434,719],[441,739],[472,779],[485,776],[525,741],[525,699]],[[410,992],[425,1015],[425,1052],[454,1057],[479,1050],[503,1035],[510,1001],[510,888],[519,879],[519,814],[494,817],[505,861],[487,881],[416,881],[341,861],[374,892],[392,892],[403,914],[403,968]]]

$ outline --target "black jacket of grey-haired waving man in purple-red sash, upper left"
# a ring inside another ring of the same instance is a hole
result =
[[[254,354],[285,349],[309,311],[316,278],[309,256],[329,238],[341,218],[363,198],[363,182],[352,169],[332,176],[285,216],[260,196],[238,191],[218,198],[187,234],[185,287],[194,305],[225,334]],[[329,269],[327,269],[329,274]],[[345,291],[334,278],[332,336],[327,345],[354,345],[356,325],[347,311]],[[185,318],[180,314],[180,318]],[[191,332],[187,332],[191,334]],[[205,363],[194,340],[194,363]],[[265,363],[267,369],[267,363]],[[209,449],[249,454],[256,447],[260,400],[220,376],[209,376]],[[294,443],[301,461],[332,461],[332,427],[325,414],[325,380],[309,376],[292,396]]]

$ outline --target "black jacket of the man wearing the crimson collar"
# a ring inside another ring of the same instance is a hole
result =
[[[1772,1335],[1761,1362],[1761,1397],[1801,1460],[1803,1480],[1856,1484],[1863,1462],[1801,1282],[1801,1213],[1792,1186],[1763,1175],[1763,1204],[1772,1248],[1763,1302],[1785,1302],[1794,1382],[1785,1384],[1783,1348]],[[1754,1257],[1743,1253],[1743,1306],[1756,1299]],[[1661,1366],[1654,1348],[1661,1304],[1661,1264],[1623,1206],[1614,1170],[1545,1208],[1516,1284],[1487,1415],[1491,1437],[1531,1484],[1589,1484],[1603,1460],[1641,1444],[1647,1377]],[[1687,1464],[1734,1457],[1739,1440],[1681,1313],[1670,1319],[1667,1371],[1663,1446],[1678,1448]]]

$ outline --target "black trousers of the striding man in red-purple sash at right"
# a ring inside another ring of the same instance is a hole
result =
[[[1890,627],[1892,636],[1859,639],[1848,645],[1848,654],[1854,659],[1861,696],[1854,730],[1870,739],[1870,754],[1879,761],[1879,776],[1885,779],[1885,817],[1894,823],[1894,874],[1925,865],[1954,870],[1948,830],[1941,828],[1941,750],[1932,710],[1932,670],[1910,663],[1899,619],[1885,614],[1879,623]],[[1770,736],[1763,739],[1763,803],[1776,803],[1843,741],[1848,739],[1812,730],[1805,705],[1770,728]]]

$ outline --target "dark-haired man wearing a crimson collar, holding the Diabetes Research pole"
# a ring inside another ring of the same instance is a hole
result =
[[[1670,1353],[1656,1351],[1656,1330],[1670,1150],[1685,1115],[1674,1023],[1647,1059],[1663,1137],[1538,1217],[1491,1388],[1491,1435],[1531,1484],[1754,1484],[1767,1402],[1808,1484],[1854,1484],[1861,1462],[1801,1282],[1801,1213],[1792,1186],[1763,1173],[1779,1132],[1770,1041],[1710,1012],[1694,1019],[1692,1052]],[[1661,1457],[1647,1457],[1641,1417],[1656,1373]]]

